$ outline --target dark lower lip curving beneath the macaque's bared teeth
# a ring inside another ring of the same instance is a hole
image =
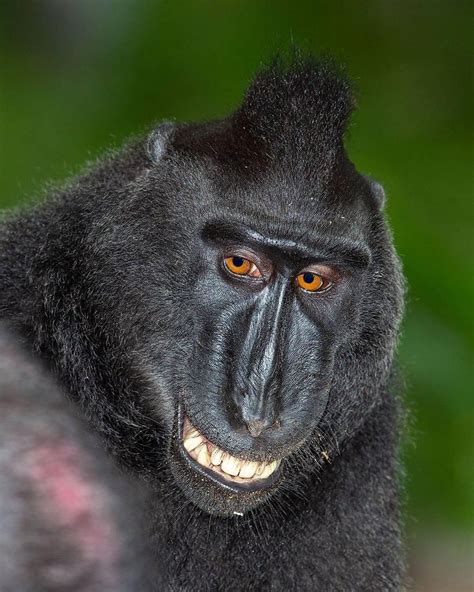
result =
[[[185,418],[185,411],[182,404],[178,404],[178,449],[181,456],[181,459],[187,465],[189,469],[197,473],[198,475],[205,477],[212,481],[215,485],[219,486],[220,488],[227,490],[228,492],[232,493],[256,493],[259,491],[265,491],[271,489],[275,486],[275,484],[281,479],[282,477],[282,464],[266,479],[256,479],[254,481],[250,481],[249,483],[238,483],[236,481],[231,481],[230,479],[226,479],[225,477],[221,476],[219,473],[211,470],[206,469],[198,462],[196,462],[189,454],[187,453],[186,449],[183,445],[183,427],[184,427],[184,418]]]

